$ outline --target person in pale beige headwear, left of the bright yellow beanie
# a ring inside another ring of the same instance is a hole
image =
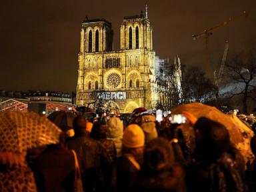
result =
[[[107,122],[107,127],[109,128],[107,139],[114,141],[115,149],[117,150],[117,157],[121,157],[123,123],[119,117],[112,117]]]

